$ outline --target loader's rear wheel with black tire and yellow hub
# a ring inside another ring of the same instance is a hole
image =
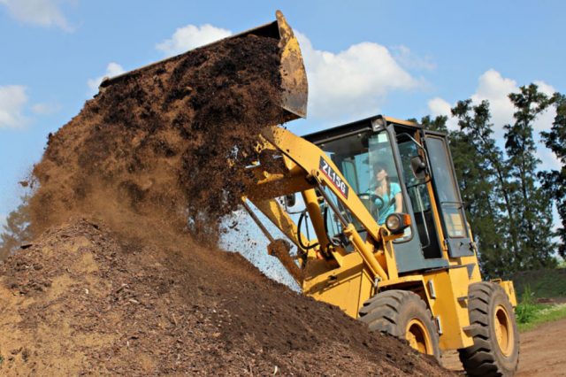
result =
[[[468,290],[468,312],[474,345],[458,350],[470,376],[512,376],[519,363],[515,312],[505,291],[492,282]]]

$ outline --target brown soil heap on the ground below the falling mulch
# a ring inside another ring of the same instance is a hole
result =
[[[239,254],[155,236],[72,219],[0,265],[0,374],[444,373]]]

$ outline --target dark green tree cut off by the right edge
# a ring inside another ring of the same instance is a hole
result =
[[[559,227],[555,234],[560,238],[558,253],[562,258],[566,258],[566,96],[556,93],[552,100],[556,107],[555,121],[550,131],[541,132],[540,136],[547,148],[555,153],[562,167],[560,171],[540,172],[539,177],[543,188],[555,200],[562,221],[562,227]]]

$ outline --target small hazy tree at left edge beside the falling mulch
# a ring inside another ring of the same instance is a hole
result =
[[[6,224],[0,233],[0,260],[7,258],[22,243],[31,239],[28,199],[29,196],[23,196],[22,203],[15,211],[10,212],[6,219]]]

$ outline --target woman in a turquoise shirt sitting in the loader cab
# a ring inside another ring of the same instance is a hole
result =
[[[402,212],[403,197],[401,186],[399,186],[399,183],[391,181],[384,164],[377,163],[374,165],[373,173],[378,181],[378,185],[374,190],[374,194],[377,196],[375,204],[379,211],[378,224],[383,225],[386,222],[387,216],[394,212]]]

